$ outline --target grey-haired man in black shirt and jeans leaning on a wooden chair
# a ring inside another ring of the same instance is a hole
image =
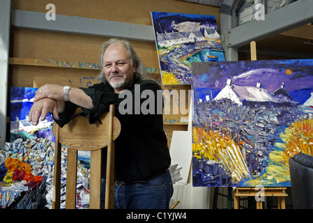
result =
[[[152,80],[144,79],[145,68],[134,49],[126,40],[111,39],[102,45],[100,84],[89,88],[70,88],[55,84],[41,86],[34,98],[29,121],[37,125],[52,112],[61,127],[70,121],[77,107],[81,107],[89,122],[96,123],[109,105],[116,105],[116,117],[121,122],[121,133],[115,141],[114,208],[169,208],[173,194],[168,167],[171,162],[167,138],[163,130],[162,113],[157,112],[157,94],[162,90]],[[136,98],[136,92],[151,91],[155,104],[149,105],[148,114],[138,106],[145,99]],[[119,95],[132,93],[133,103],[119,107],[125,100]],[[162,91],[161,91],[162,92]],[[136,100],[140,102],[136,104]],[[132,105],[132,106],[130,106]],[[125,112],[125,106],[130,106]],[[121,110],[121,111],[120,111]],[[137,112],[136,112],[137,111]],[[106,159],[106,153],[102,160]],[[102,178],[105,164],[102,164]],[[105,183],[102,183],[102,207],[105,199]]]

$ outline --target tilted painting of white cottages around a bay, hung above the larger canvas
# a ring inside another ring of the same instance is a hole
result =
[[[163,85],[191,84],[191,63],[225,61],[213,15],[151,12]]]

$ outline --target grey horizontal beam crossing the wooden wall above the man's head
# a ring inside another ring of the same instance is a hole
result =
[[[58,33],[70,33],[85,36],[119,37],[130,40],[154,42],[153,26],[97,20],[86,17],[56,15],[56,20],[45,20],[46,13],[26,10],[12,11],[12,26],[19,29],[31,29]]]

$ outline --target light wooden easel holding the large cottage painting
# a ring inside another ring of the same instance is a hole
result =
[[[257,60],[257,47],[256,43],[252,41],[250,43],[251,60]],[[255,197],[256,194],[261,197],[278,197],[278,208],[285,209],[285,197],[288,197],[286,193],[287,187],[264,187],[264,192],[255,190],[255,187],[236,187],[234,189],[234,209],[239,209],[240,197]],[[262,201],[257,201],[257,209],[262,209]]]

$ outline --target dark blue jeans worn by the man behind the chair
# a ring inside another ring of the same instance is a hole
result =
[[[174,189],[169,171],[146,183],[114,185],[115,209],[169,209]],[[105,180],[101,185],[101,208],[105,208]]]

